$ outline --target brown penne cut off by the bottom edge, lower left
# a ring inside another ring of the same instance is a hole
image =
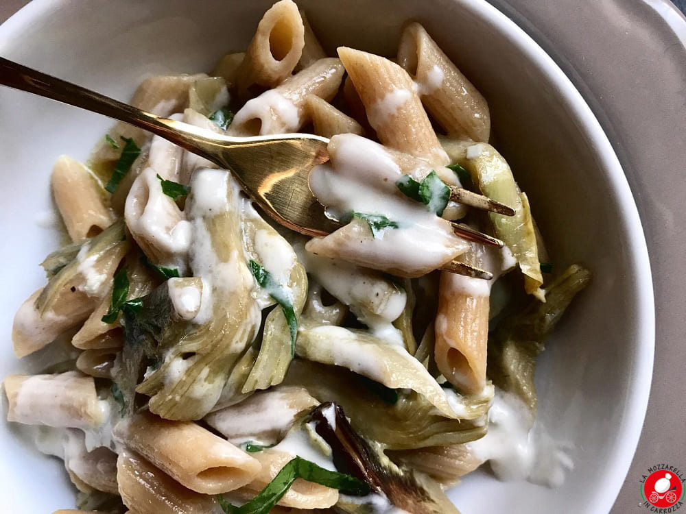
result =
[[[128,449],[117,458],[117,483],[121,501],[137,514],[211,514],[216,500],[180,485]]]

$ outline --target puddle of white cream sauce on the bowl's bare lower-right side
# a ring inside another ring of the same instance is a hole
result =
[[[488,432],[467,447],[475,457],[490,461],[500,480],[557,487],[573,468],[565,445],[547,436],[538,421],[533,423],[519,397],[498,389],[488,412]]]

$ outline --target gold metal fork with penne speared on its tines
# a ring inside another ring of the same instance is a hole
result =
[[[329,160],[329,140],[314,134],[232,137],[202,130],[108,98],[95,91],[46,75],[27,66],[0,58],[0,84],[104,114],[161,136],[193,154],[230,170],[252,199],[277,223],[307,236],[324,236],[341,227],[325,215],[324,207],[311,193],[309,172]],[[463,204],[514,215],[504,204],[462,188],[451,188],[451,199]],[[502,247],[499,239],[460,223],[456,234],[470,241]],[[488,271],[451,262],[446,271],[492,278]]]

